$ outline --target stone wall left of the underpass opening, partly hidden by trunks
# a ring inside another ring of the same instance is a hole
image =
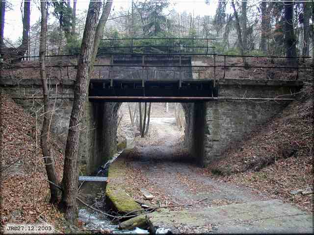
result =
[[[73,80],[49,80],[50,107],[54,110],[51,131],[65,150],[74,89]],[[42,123],[42,88],[37,78],[2,78],[1,88],[33,117],[38,117],[38,128]],[[120,103],[87,102],[84,119],[80,126],[79,158],[87,164],[87,173],[92,174],[109,160],[116,151],[117,111]]]

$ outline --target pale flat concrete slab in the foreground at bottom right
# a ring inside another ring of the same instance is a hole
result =
[[[148,218],[154,232],[169,228],[172,233],[313,233],[313,214],[281,200],[161,211]]]

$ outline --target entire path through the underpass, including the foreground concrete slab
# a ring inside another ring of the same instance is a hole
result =
[[[152,118],[151,136],[136,141],[127,159],[135,177],[133,188],[146,188],[151,203],[185,205],[149,215],[150,227],[174,233],[312,233],[313,216],[256,189],[205,176],[184,161],[182,130],[174,118]],[[137,174],[137,175],[136,175]],[[144,180],[143,180],[144,179]],[[142,184],[141,182],[146,182]],[[136,199],[142,195],[133,194]],[[201,201],[199,203],[195,203]],[[188,205],[192,204],[192,205]]]

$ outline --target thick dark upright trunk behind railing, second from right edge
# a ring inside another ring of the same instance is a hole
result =
[[[284,15],[284,29],[285,29],[285,42],[286,42],[286,56],[294,57],[287,58],[288,65],[297,66],[296,48],[295,48],[295,36],[293,29],[293,2],[285,1],[285,15]]]

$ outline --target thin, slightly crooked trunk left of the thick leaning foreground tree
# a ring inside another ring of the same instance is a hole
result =
[[[49,90],[46,80],[46,66],[45,66],[45,54],[46,54],[46,40],[47,40],[47,2],[40,2],[41,9],[41,31],[40,31],[40,51],[39,51],[39,60],[40,60],[40,78],[43,86],[43,95],[44,95],[44,120],[43,127],[40,134],[40,145],[43,152],[44,163],[47,171],[48,180],[52,183],[49,183],[50,187],[50,203],[56,203],[58,201],[59,189],[55,187],[58,185],[54,160],[52,155],[52,149],[49,149],[48,146],[48,135],[49,135]]]

